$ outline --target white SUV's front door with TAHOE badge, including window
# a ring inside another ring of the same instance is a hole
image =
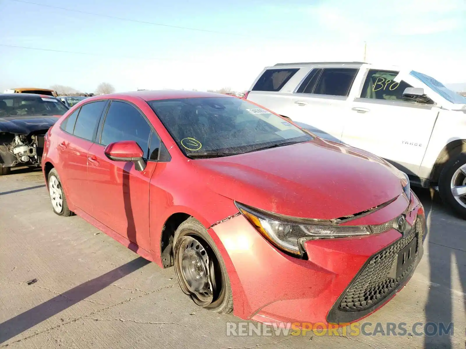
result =
[[[417,175],[439,113],[430,104],[405,101],[412,87],[399,72],[370,68],[348,106],[342,142],[376,154],[409,175]]]

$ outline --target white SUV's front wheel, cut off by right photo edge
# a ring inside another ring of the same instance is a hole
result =
[[[448,161],[439,178],[439,194],[442,201],[461,218],[466,219],[466,153]],[[465,194],[462,194],[462,193]]]

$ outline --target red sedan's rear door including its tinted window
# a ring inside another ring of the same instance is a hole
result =
[[[84,104],[69,115],[62,124],[64,131],[58,143],[61,171],[69,201],[74,206],[90,213],[91,195],[89,192],[87,166],[88,151],[97,131],[106,101],[93,101]]]

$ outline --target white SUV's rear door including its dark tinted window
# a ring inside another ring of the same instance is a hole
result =
[[[340,142],[357,72],[356,67],[313,68],[297,87],[287,116],[319,137]]]

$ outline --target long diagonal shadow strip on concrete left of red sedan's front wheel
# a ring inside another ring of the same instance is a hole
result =
[[[19,335],[40,322],[47,320],[78,302],[81,302],[83,299],[86,299],[90,295],[110,286],[122,277],[144,267],[147,263],[149,263],[149,261],[143,257],[138,257],[118,268],[110,270],[108,273],[84,282],[81,285],[49,299],[47,302],[43,302],[20,315],[16,315],[15,317],[0,323],[0,343]]]

